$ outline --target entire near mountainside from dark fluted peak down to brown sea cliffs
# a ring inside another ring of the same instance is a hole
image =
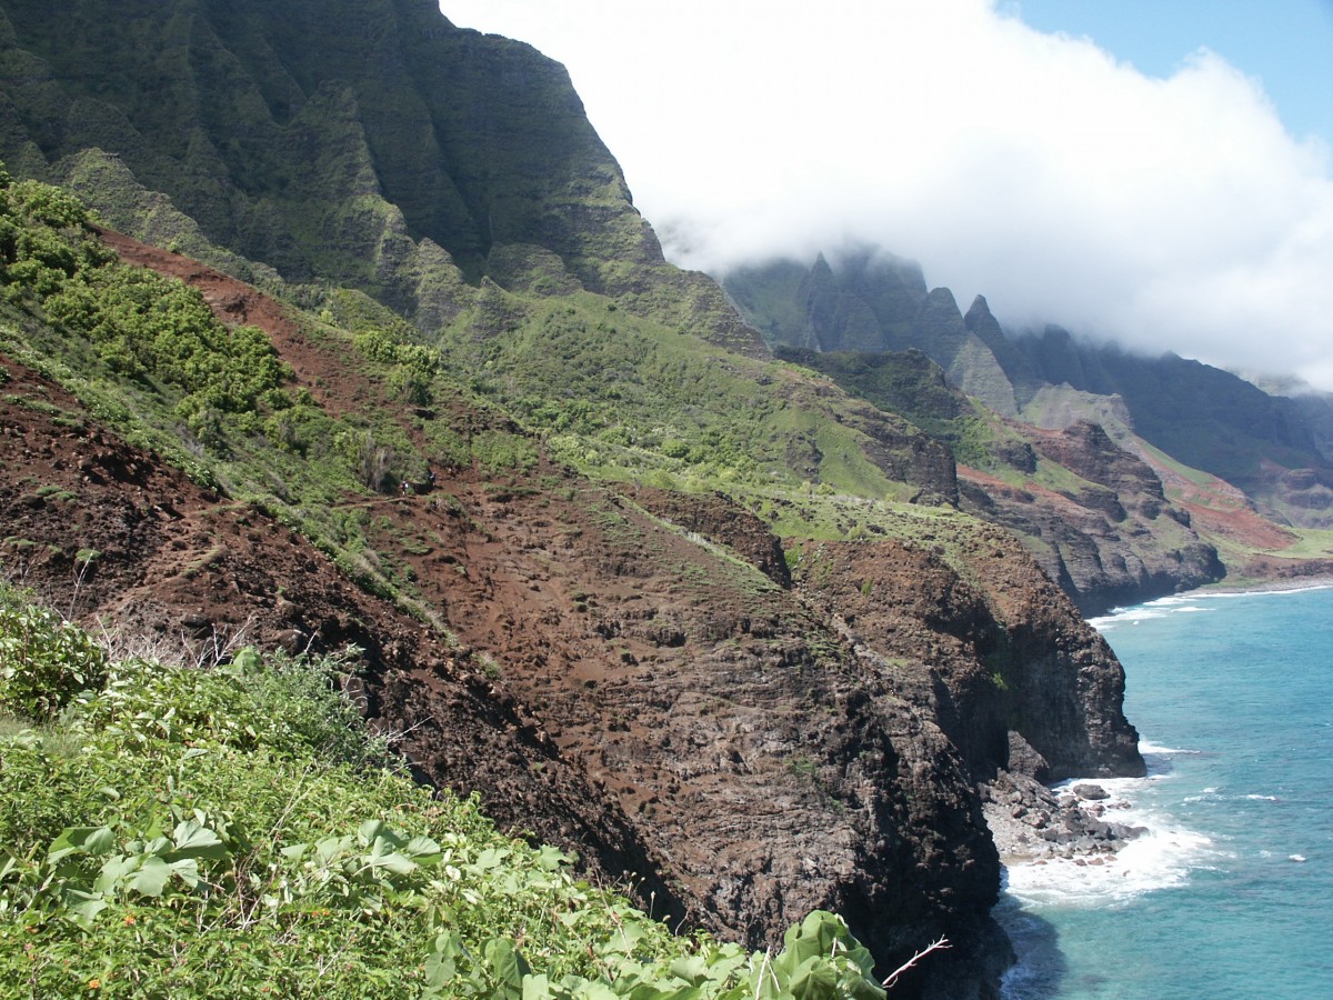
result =
[[[953,940],[898,995],[993,992],[977,783],[1142,768],[1105,644],[957,509],[1000,424],[774,360],[564,71],[427,0],[0,13],[8,571],[355,643],[419,777],[673,927],[828,909],[882,971]],[[1102,451],[1057,485],[1133,479]]]

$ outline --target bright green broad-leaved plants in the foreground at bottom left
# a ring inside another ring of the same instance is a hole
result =
[[[829,913],[777,955],[673,936],[392,767],[336,679],[111,661],[0,585],[0,983],[31,996],[849,997]],[[33,711],[35,709],[35,711]],[[59,715],[56,712],[59,711]]]

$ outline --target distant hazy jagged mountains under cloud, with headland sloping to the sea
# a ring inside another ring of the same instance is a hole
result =
[[[1221,576],[1328,569],[1330,397],[961,312],[877,248],[741,267],[778,357],[946,443],[965,509],[1024,537],[1089,613]]]

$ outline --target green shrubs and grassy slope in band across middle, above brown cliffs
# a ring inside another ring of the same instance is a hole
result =
[[[527,473],[539,435],[556,459],[613,480],[766,491],[792,489],[798,475],[829,495],[913,492],[866,457],[864,417],[844,397],[581,291],[535,300],[488,285],[433,348],[360,292],[291,288],[320,313],[303,333],[387,403],[331,412],[292,385],[264,333],[228,328],[196,291],[120,264],[77,200],[35,181],[3,184],[0,217],[13,239],[0,259],[0,349],[63,383],[129,443],[300,531],[351,579],[413,613],[415,584],[376,555],[364,505],[404,480],[425,481],[431,465]],[[463,401],[472,416],[433,409],[440,400]],[[904,440],[914,433],[904,428]],[[793,456],[808,465],[793,472]]]

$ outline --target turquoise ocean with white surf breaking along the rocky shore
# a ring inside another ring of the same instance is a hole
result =
[[[1093,624],[1125,665],[1145,835],[1021,864],[1006,1000],[1333,997],[1333,588],[1169,597]]]

